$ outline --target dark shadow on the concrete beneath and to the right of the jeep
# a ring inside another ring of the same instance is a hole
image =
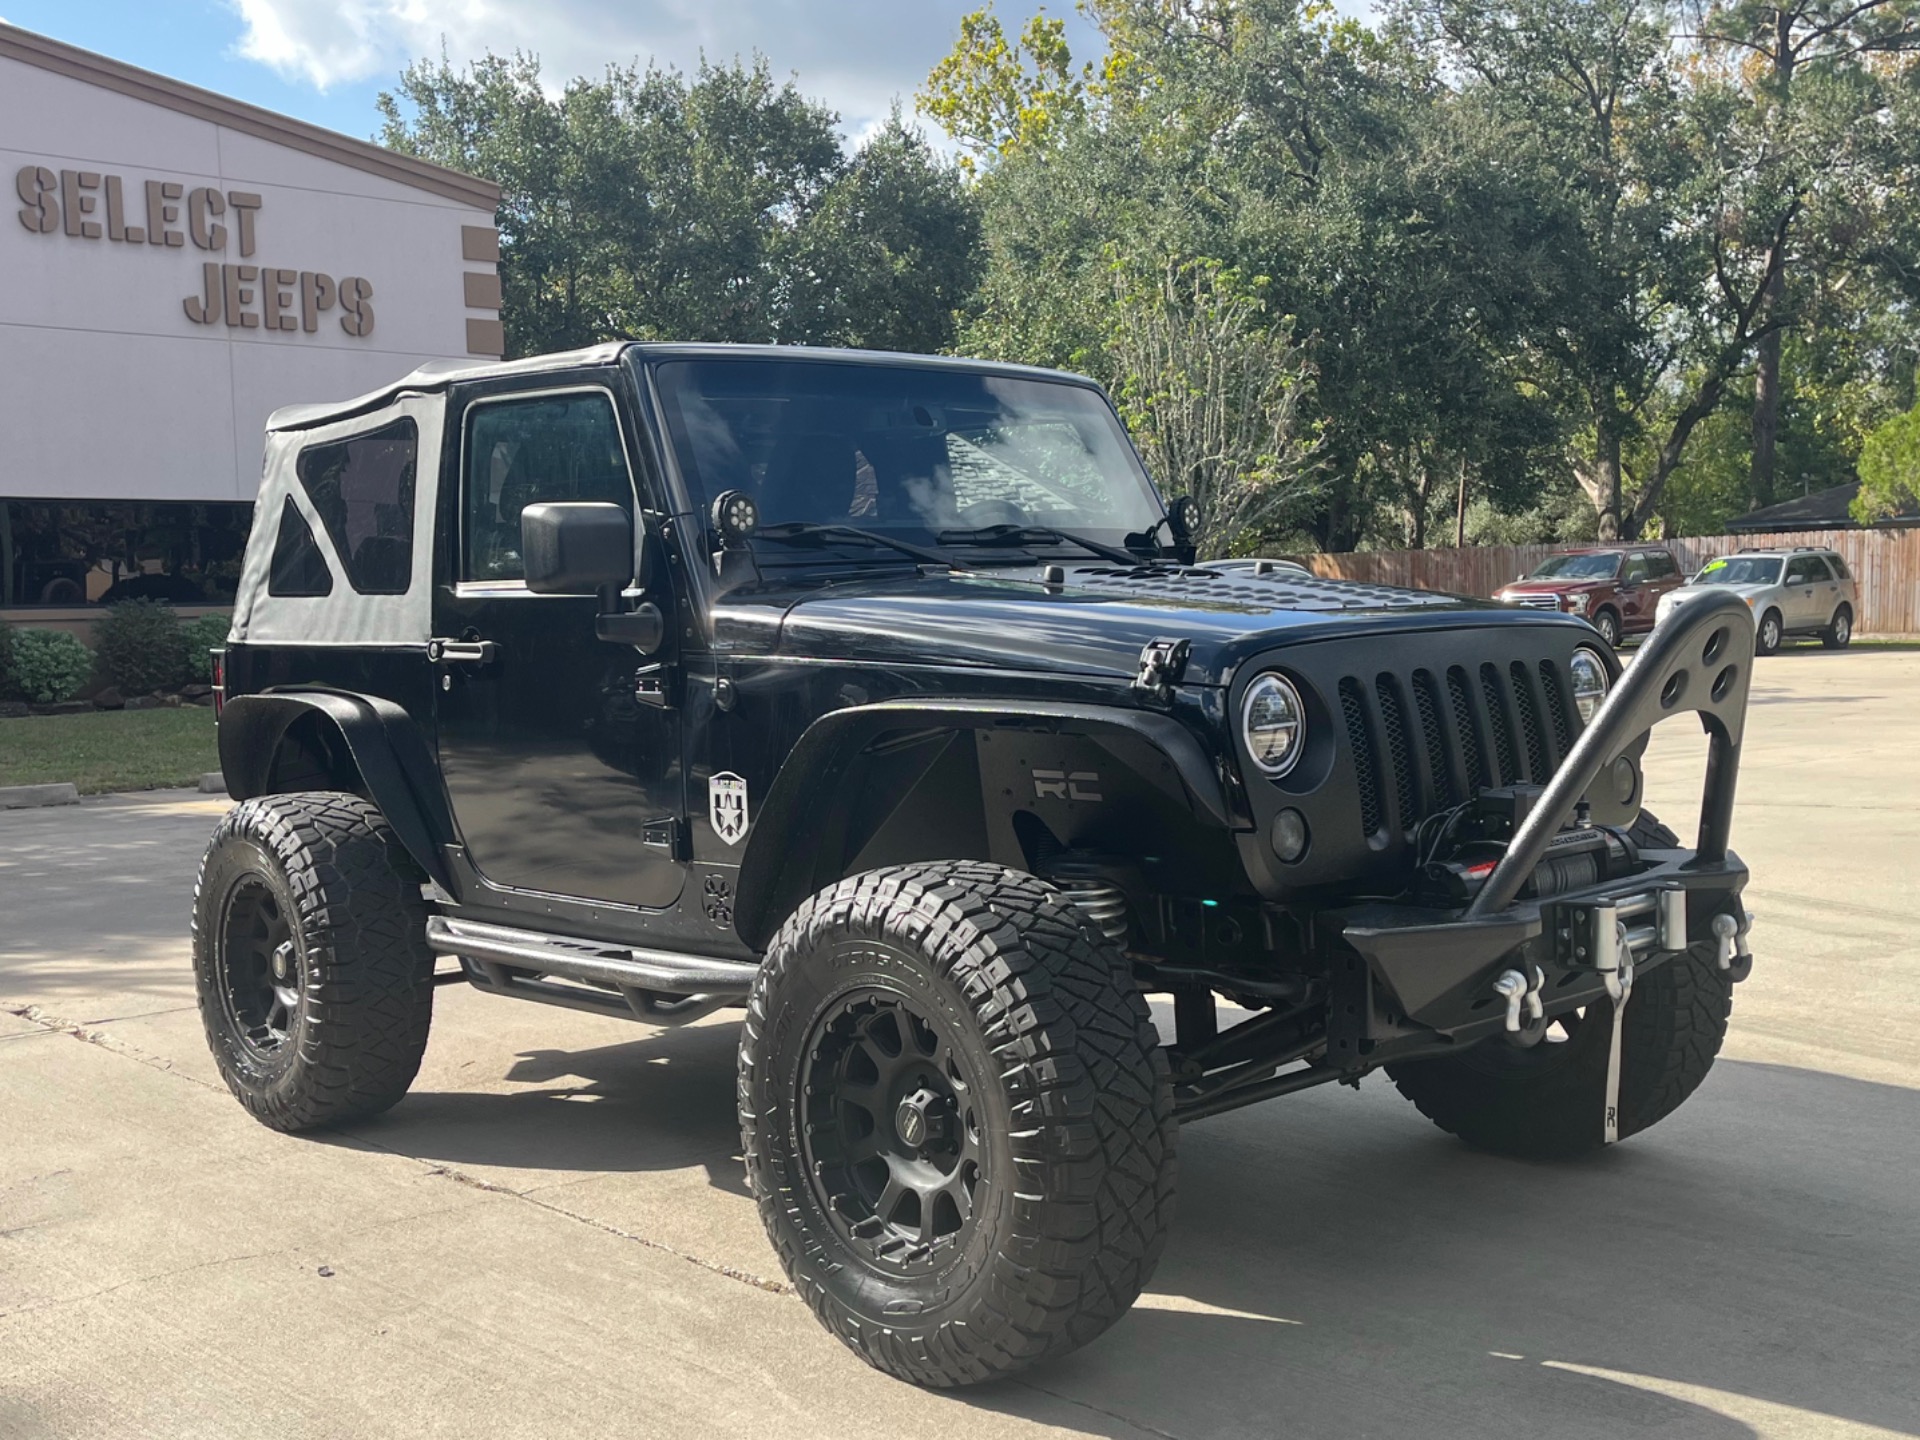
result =
[[[705,1165],[741,1196],[735,1039],[526,1052],[509,1079],[540,1089],[413,1094],[365,1139],[455,1165]],[[1379,1079],[1329,1087],[1188,1127],[1133,1313],[954,1400],[1054,1425],[1068,1400],[1129,1440],[1920,1434],[1916,1171],[1920,1091],[1805,1069],[1720,1062],[1661,1129],[1567,1165],[1476,1154]]]

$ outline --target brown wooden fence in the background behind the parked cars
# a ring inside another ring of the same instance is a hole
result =
[[[1753,545],[1818,545],[1839,551],[1860,589],[1855,630],[1862,636],[1920,636],[1920,528],[1797,530],[1782,536],[1693,536],[1661,541],[1692,574],[1715,555]],[[1453,595],[1492,595],[1548,555],[1580,545],[1473,545],[1302,555],[1315,574]]]

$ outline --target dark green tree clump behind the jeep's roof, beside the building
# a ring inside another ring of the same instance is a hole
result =
[[[776,84],[762,58],[691,79],[611,67],[557,98],[532,56],[420,61],[380,109],[394,150],[499,182],[513,353],[597,340],[933,349],[972,282],[958,169],[899,123],[847,156],[833,111]]]

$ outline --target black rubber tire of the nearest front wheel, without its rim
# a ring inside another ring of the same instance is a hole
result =
[[[810,1037],[870,987],[927,1006],[979,1081],[985,1198],[922,1277],[883,1273],[835,1231],[799,1133],[816,1104],[799,1092]],[[1173,1219],[1167,1066],[1125,956],[1002,866],[874,870],[803,902],[753,987],[739,1123],[795,1288],[862,1359],[916,1384],[991,1380],[1092,1340],[1140,1294]]]

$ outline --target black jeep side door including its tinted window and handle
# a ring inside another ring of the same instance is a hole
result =
[[[492,885],[668,906],[684,883],[678,714],[636,695],[630,645],[593,636],[595,597],[536,595],[520,563],[536,501],[611,501],[637,536],[641,447],[609,372],[541,380],[457,397],[434,611],[440,766],[467,860]],[[672,636],[672,601],[655,599]]]

